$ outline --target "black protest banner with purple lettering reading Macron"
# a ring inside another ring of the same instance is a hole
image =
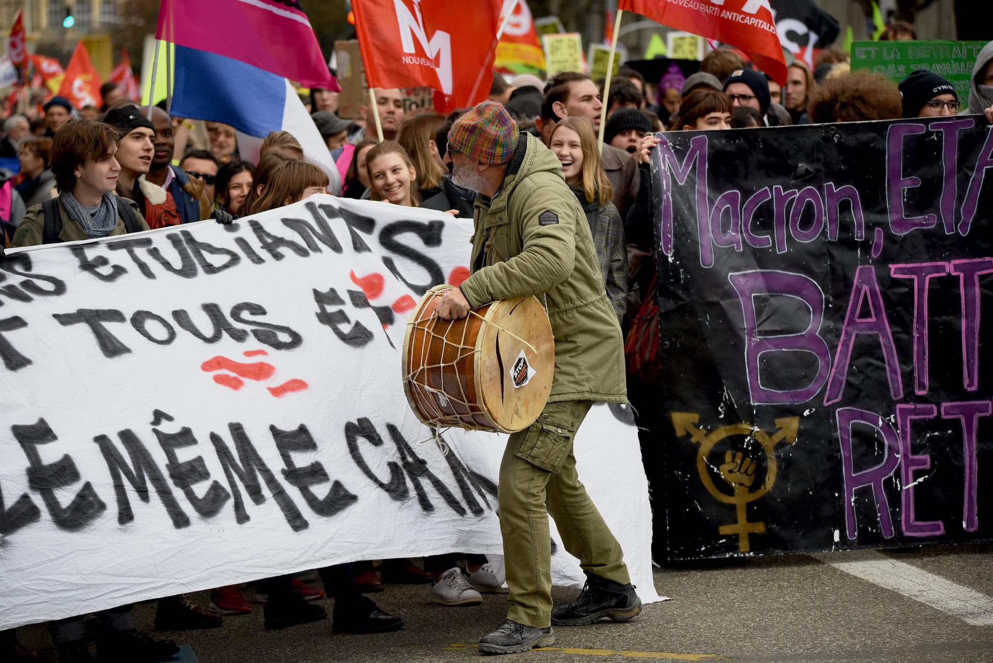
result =
[[[669,555],[993,539],[993,131],[661,134]]]

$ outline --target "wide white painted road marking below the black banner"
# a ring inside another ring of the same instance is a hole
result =
[[[879,551],[817,553],[810,557],[856,578],[868,580],[921,601],[973,626],[993,626],[993,598],[975,589],[928,574]]]

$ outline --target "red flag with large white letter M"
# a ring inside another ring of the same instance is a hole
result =
[[[453,11],[441,0],[352,0],[369,86],[431,87],[443,113],[484,100],[501,4],[473,0]]]

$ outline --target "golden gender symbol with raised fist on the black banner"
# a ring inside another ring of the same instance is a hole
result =
[[[703,482],[707,492],[714,496],[719,502],[735,505],[738,522],[734,525],[721,525],[718,532],[721,534],[737,534],[738,550],[747,553],[751,550],[749,543],[750,534],[765,534],[766,523],[750,523],[746,512],[746,505],[761,499],[769,492],[769,489],[776,483],[779,468],[776,462],[776,445],[781,441],[792,444],[796,441],[796,432],[799,428],[798,416],[786,416],[776,419],[778,430],[770,435],[765,430],[751,423],[735,423],[726,425],[708,433],[705,428],[698,427],[699,414],[694,413],[669,413],[672,417],[672,426],[675,428],[676,436],[689,435],[690,441],[699,444],[700,449],[696,454],[696,469],[700,474],[700,481]],[[718,490],[714,484],[714,479],[710,475],[709,467],[714,464],[709,460],[710,452],[714,445],[725,437],[732,435],[744,435],[751,437],[762,445],[766,451],[766,478],[762,485],[756,490],[751,490],[755,484],[756,462],[743,452],[735,453],[730,449],[724,454],[724,462],[717,465],[717,472],[730,486],[732,494]]]

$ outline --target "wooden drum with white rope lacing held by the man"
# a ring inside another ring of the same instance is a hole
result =
[[[431,288],[407,323],[403,390],[426,425],[514,432],[548,401],[555,345],[534,297],[495,301],[461,320],[435,309],[451,285]]]

